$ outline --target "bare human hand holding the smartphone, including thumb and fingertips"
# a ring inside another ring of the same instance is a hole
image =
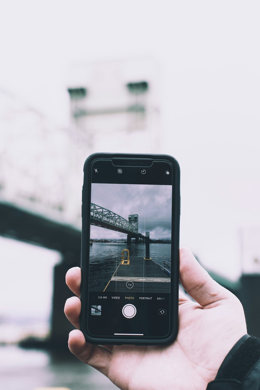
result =
[[[72,297],[64,308],[77,328],[69,333],[70,351],[123,390],[206,389],[228,351],[246,334],[244,310],[230,291],[212,280],[187,248],[180,249],[180,282],[196,302],[179,293],[179,333],[172,344],[87,344],[78,330],[81,302]],[[80,295],[80,268],[69,269],[66,283]]]

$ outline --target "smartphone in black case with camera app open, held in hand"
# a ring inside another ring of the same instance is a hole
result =
[[[167,155],[97,153],[84,165],[80,330],[92,344],[177,337],[180,168]]]

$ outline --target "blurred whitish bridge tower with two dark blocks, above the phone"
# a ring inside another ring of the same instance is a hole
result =
[[[71,126],[95,151],[160,151],[159,69],[149,58],[71,68]]]

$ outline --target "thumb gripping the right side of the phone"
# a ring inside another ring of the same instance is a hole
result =
[[[180,282],[202,307],[216,306],[219,301],[233,297],[209,276],[188,248],[180,248]]]

